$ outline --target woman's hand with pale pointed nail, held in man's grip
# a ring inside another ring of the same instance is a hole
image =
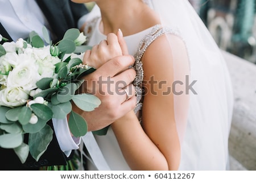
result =
[[[108,34],[106,40],[102,40],[100,44],[86,51],[83,64],[88,64],[90,67],[97,69],[110,59],[126,54],[127,47],[125,40],[123,40],[122,32],[118,31],[117,35],[113,33]]]

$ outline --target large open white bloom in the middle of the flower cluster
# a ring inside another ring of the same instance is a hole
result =
[[[36,82],[40,79],[38,67],[32,60],[25,61],[17,65],[9,72],[6,85],[9,87],[20,87],[26,92],[36,88]]]

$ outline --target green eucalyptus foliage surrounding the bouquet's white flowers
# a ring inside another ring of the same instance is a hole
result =
[[[17,107],[0,106],[0,147],[13,148],[22,163],[26,161],[29,154],[35,160],[39,160],[47,150],[53,137],[53,131],[47,122],[52,118],[64,119],[70,113],[68,125],[71,133],[75,137],[86,134],[87,123],[81,115],[72,111],[71,102],[84,111],[92,111],[101,104],[96,96],[76,94],[76,90],[84,82],[82,77],[95,71],[92,67],[82,65],[80,58],[71,59],[71,56],[67,55],[85,52],[92,48],[84,45],[76,46],[76,42],[81,43],[79,37],[85,39],[80,31],[77,28],[71,28],[65,32],[60,42],[52,44],[47,28],[43,27],[43,37],[44,40],[32,31],[27,42],[23,42],[23,48],[26,49],[28,44],[31,44],[32,47],[40,49],[45,46],[45,43],[49,44],[49,53],[61,59],[60,63],[54,65],[56,75],[37,81],[38,89],[33,90],[35,95],[31,94],[32,97],[28,98],[26,104]],[[5,54],[5,48],[0,45],[0,57]],[[65,60],[64,56],[67,56]],[[40,91],[37,92],[37,90]],[[44,103],[35,102],[38,97],[43,97]],[[30,101],[33,103],[28,104]],[[31,120],[31,118],[36,119]],[[28,134],[28,144],[23,141],[24,134]]]

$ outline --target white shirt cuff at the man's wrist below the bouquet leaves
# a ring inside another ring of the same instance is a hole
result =
[[[72,150],[79,149],[81,138],[71,136],[67,118],[52,118],[52,123],[60,149],[64,152],[65,155],[69,156]]]

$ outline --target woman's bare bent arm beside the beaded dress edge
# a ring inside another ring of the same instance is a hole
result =
[[[173,61],[187,59],[187,52],[179,38],[170,36],[175,47],[170,49],[166,36],[161,36],[143,57],[144,86],[148,91],[142,108],[144,130],[133,111],[112,124],[122,153],[133,170],[179,168],[180,141],[174,117],[174,95],[168,89],[174,82]],[[187,107],[184,103],[184,115]]]

